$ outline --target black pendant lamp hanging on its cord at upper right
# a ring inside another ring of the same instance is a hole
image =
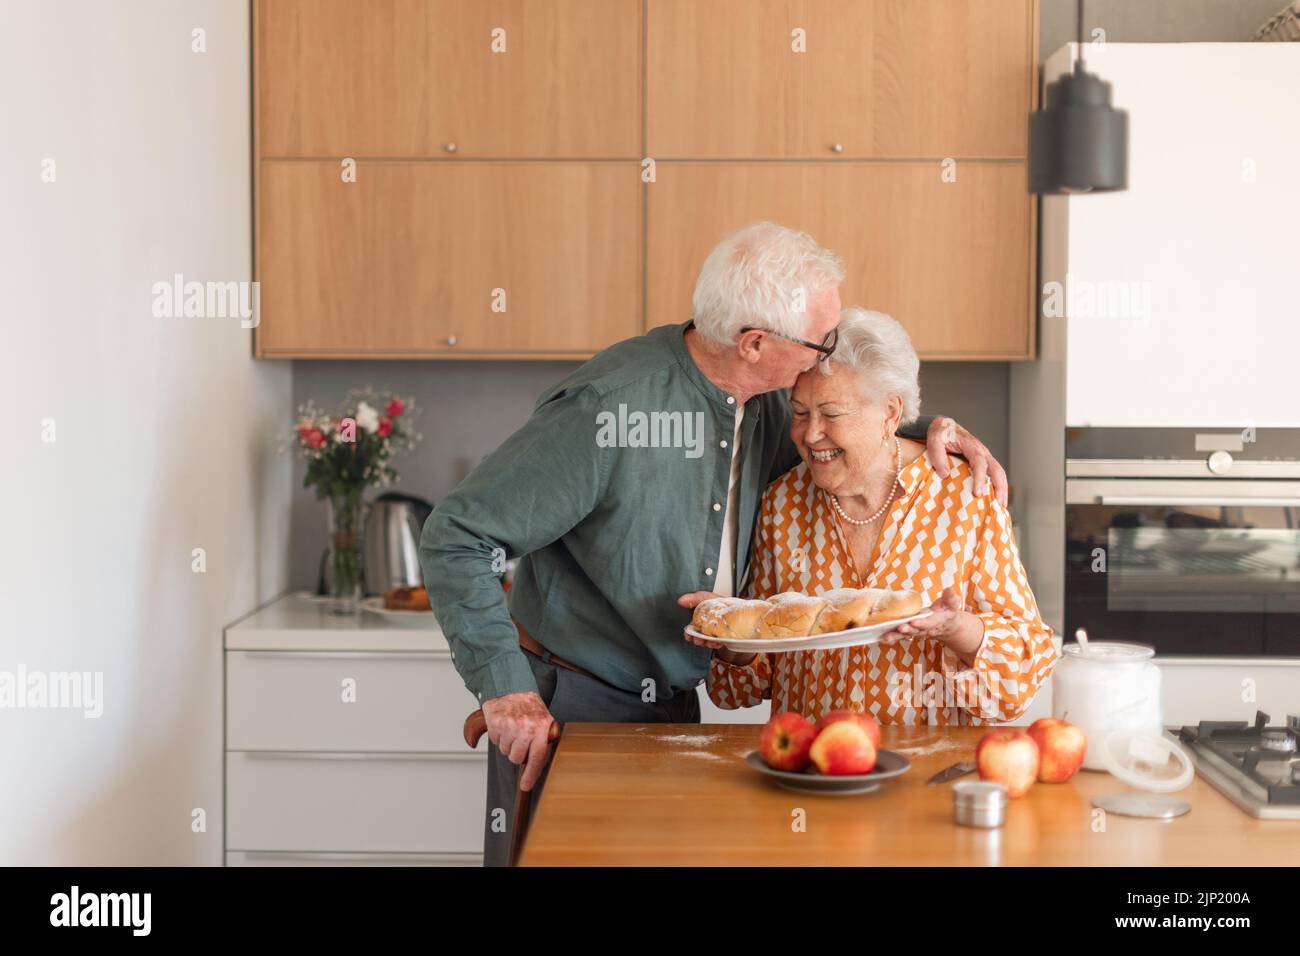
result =
[[[1030,117],[1030,193],[1067,195],[1128,187],[1128,113],[1110,105],[1110,83],[1079,59],[1074,72],[1046,88],[1046,104]]]

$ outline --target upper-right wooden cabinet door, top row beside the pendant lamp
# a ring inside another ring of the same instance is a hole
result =
[[[1034,0],[646,0],[647,150],[1023,157]]]

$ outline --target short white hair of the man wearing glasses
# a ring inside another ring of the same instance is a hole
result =
[[[803,338],[812,299],[844,281],[844,264],[807,233],[754,222],[714,246],[696,280],[699,334],[732,345],[753,325]]]

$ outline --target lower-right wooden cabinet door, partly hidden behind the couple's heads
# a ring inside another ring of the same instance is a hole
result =
[[[845,306],[888,312],[922,358],[1031,351],[1031,209],[1022,164],[664,163],[649,187],[647,323],[682,321],[708,250],[748,222],[844,259]]]

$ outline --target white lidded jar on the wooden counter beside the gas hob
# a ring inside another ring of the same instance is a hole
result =
[[[1160,667],[1145,644],[1066,644],[1052,687],[1052,715],[1088,736],[1086,770],[1106,770],[1101,748],[1112,731],[1164,732]]]

